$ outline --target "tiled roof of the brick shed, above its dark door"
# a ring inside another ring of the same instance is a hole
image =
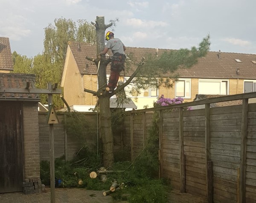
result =
[[[29,89],[35,88],[34,74],[0,73],[0,87],[3,88],[26,88],[26,83],[30,82]],[[0,97],[18,98],[39,98],[38,94],[1,93]]]

